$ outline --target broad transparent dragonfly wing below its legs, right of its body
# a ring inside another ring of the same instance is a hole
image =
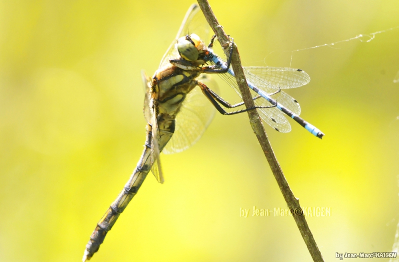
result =
[[[197,79],[216,93],[219,92],[216,82],[208,75],[202,74]],[[202,94],[200,88],[194,88],[186,96],[176,117],[175,133],[162,152],[178,153],[195,144],[209,126],[215,111],[216,109]]]

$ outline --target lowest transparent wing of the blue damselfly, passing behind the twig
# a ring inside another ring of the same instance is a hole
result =
[[[237,82],[235,81],[235,77],[233,77],[232,75],[230,75],[228,73],[219,74],[219,76],[228,85],[230,85],[232,88],[234,88],[235,92],[241,97],[241,93],[239,91]],[[254,92],[253,90],[250,90],[250,92],[251,92],[252,97],[257,96],[257,93]],[[280,91],[280,93],[283,93],[283,91]],[[275,95],[273,95],[273,96],[275,96]],[[279,100],[277,100],[277,102],[280,103]],[[262,107],[272,106],[272,104],[270,102],[268,102],[266,99],[263,99],[263,98],[256,99],[254,101],[254,103],[256,106],[262,106]],[[280,104],[283,105],[283,103],[280,103]],[[285,105],[283,105],[283,106],[285,106]],[[263,121],[265,121],[270,127],[274,128],[275,130],[283,132],[283,133],[287,133],[287,132],[291,131],[290,123],[285,118],[284,114],[276,107],[258,109],[258,112],[259,112],[259,116],[261,117],[261,119]]]

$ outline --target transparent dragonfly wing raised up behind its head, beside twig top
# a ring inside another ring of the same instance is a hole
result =
[[[170,59],[178,58],[180,56],[178,50],[175,48],[175,44],[180,37],[195,33],[200,36],[205,44],[207,44],[210,39],[210,32],[211,29],[201,12],[200,6],[198,4],[192,4],[180,25],[176,38],[172,41],[168,50],[164,54],[164,57],[162,57],[159,67],[161,68],[168,65]]]

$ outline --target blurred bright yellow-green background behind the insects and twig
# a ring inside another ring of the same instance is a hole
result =
[[[1,262],[81,260],[143,149],[140,71],[155,72],[191,3],[0,1]],[[325,261],[391,251],[399,28],[291,51],[399,26],[399,2],[210,4],[244,66],[311,76],[288,93],[323,140],[293,121],[290,133],[266,131],[301,205],[331,208],[307,218]],[[149,174],[93,262],[311,261],[292,217],[240,217],[240,208],[286,207],[246,114],[216,115],[196,145],[162,163],[166,182]]]

